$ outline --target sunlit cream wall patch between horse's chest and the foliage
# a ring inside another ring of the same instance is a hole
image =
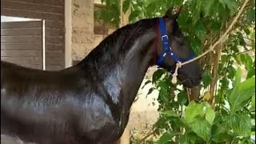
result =
[[[146,78],[143,80],[141,88],[138,90],[138,99],[131,107],[130,119],[126,128],[130,130],[130,133],[133,135],[145,134],[158,120],[158,90],[154,90],[151,94],[146,96],[152,85],[148,84],[142,89],[144,83],[148,79],[151,79],[155,70],[156,67],[152,67],[147,71]]]

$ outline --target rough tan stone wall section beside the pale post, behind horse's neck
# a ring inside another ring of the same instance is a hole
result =
[[[94,1],[72,0],[72,61],[80,61],[94,48]]]

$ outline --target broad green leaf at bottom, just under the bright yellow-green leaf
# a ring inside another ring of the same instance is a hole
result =
[[[204,141],[210,141],[211,127],[209,122],[207,122],[205,119],[197,117],[196,120],[190,124],[190,128]]]

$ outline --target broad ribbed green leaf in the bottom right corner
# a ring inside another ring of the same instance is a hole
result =
[[[226,116],[225,122],[230,125],[230,128],[234,130],[234,134],[237,136],[250,136],[251,122],[249,115],[243,113],[230,114]]]

